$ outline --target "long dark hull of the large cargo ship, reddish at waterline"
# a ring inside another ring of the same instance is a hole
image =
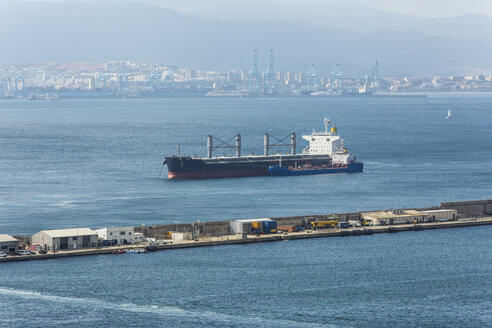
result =
[[[169,179],[233,178],[270,175],[273,165],[331,165],[329,155],[278,155],[218,158],[166,157]]]

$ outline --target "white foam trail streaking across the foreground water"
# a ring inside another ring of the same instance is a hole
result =
[[[253,318],[242,317],[238,315],[228,315],[211,311],[189,311],[178,307],[171,306],[158,306],[158,305],[138,305],[134,303],[112,303],[109,301],[98,300],[93,298],[80,298],[71,296],[57,296],[47,293],[41,293],[36,291],[18,290],[12,288],[0,287],[0,295],[17,296],[20,298],[27,298],[29,300],[45,300],[50,302],[70,303],[70,304],[82,304],[83,306],[91,306],[96,308],[104,308],[108,310],[118,310],[132,313],[151,313],[158,316],[175,316],[185,317],[187,319],[196,320],[213,320],[220,321],[228,324],[251,324],[256,326],[271,326],[271,327],[342,327],[340,325],[333,324],[318,324],[318,323],[305,323],[293,320],[275,320],[268,318]],[[350,326],[343,326],[350,327]]]

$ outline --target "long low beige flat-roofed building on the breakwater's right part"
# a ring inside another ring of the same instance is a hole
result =
[[[416,210],[362,212],[361,216],[369,225],[420,223],[426,219],[425,213]]]

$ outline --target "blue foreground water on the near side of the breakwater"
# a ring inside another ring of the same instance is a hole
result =
[[[490,327],[492,226],[0,264],[0,327]]]

